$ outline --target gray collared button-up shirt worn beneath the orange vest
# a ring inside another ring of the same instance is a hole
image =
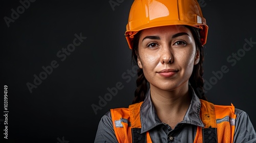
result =
[[[183,121],[172,129],[160,121],[148,91],[140,108],[141,133],[149,131],[153,142],[194,142],[197,127],[204,127],[199,115],[200,105],[200,100],[192,89],[192,99]],[[235,114],[234,142],[256,142],[256,133],[247,113],[236,108]],[[118,142],[110,111],[101,117],[94,142]]]

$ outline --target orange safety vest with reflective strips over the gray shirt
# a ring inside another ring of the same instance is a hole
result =
[[[212,136],[216,142],[233,142],[234,106],[214,105],[210,102],[201,100],[201,120],[205,127],[198,127],[194,142],[208,142]],[[135,140],[145,140],[152,142],[150,133],[140,134],[140,106],[143,102],[132,104],[129,108],[111,109],[113,127],[118,142],[132,143]],[[225,120],[228,119],[228,120]],[[216,134],[217,133],[217,134]]]

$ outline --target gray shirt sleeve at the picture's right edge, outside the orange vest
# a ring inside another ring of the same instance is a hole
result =
[[[235,109],[235,114],[237,118],[234,130],[234,142],[256,142],[256,133],[248,114],[240,109]]]

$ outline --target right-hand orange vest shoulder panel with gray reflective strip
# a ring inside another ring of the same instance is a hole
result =
[[[198,127],[194,142],[233,142],[234,106],[214,105],[201,100],[200,116],[204,128]]]

